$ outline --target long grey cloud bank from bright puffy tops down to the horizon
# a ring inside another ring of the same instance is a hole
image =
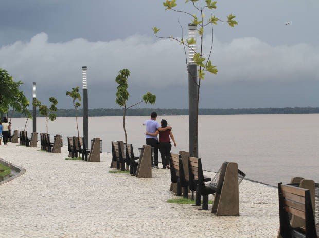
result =
[[[205,42],[205,47],[209,47],[208,39]],[[206,74],[201,107],[285,106],[278,102],[282,92],[288,90],[286,94],[293,98],[300,84],[316,84],[318,53],[317,47],[307,44],[271,46],[255,37],[238,38],[229,43],[214,39],[212,60],[219,72]],[[46,33],[40,33],[29,41],[17,41],[0,48],[0,67],[25,82],[26,95],[31,97],[31,84],[37,82],[37,97],[46,102],[55,96],[60,108],[72,107],[65,91],[81,87],[83,65],[88,67],[90,108],[118,107],[114,103],[115,77],[122,68],[131,71],[132,104],[150,91],[157,95],[155,107],[187,107],[185,55],[182,46],[172,40],[135,34],[107,42],[77,38],[51,43]],[[256,82],[262,83],[256,85]],[[238,87],[242,93],[236,90]],[[268,90],[274,94],[272,98]],[[317,100],[313,95],[304,96],[303,101],[284,102],[286,106],[311,106],[306,98]]]

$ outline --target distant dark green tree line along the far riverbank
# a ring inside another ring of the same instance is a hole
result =
[[[188,109],[164,108],[131,108],[127,116],[149,116],[153,111],[158,115],[188,115]],[[30,113],[32,111],[30,110]],[[243,115],[243,114],[313,114],[319,113],[319,107],[283,107],[283,108],[240,108],[240,109],[199,109],[199,115]],[[58,109],[57,117],[74,117],[75,109]],[[9,117],[25,117],[25,115],[9,111]],[[83,110],[78,109],[78,116],[83,116]],[[88,116],[123,116],[123,109],[95,108],[88,110]],[[37,110],[37,117],[44,117]]]

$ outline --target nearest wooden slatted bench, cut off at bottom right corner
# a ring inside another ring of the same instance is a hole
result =
[[[279,232],[282,238],[319,237],[317,231],[311,195],[308,189],[278,183],[279,195]],[[292,227],[290,225],[289,213],[305,220],[305,226]]]

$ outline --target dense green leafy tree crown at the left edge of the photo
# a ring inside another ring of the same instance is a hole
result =
[[[28,110],[29,101],[23,91],[19,90],[21,81],[14,82],[12,76],[0,68],[0,112],[7,113],[9,108],[21,112],[27,118],[32,118]]]

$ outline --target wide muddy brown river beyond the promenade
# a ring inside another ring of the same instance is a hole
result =
[[[179,150],[189,151],[188,116],[158,116],[173,127]],[[145,144],[147,116],[126,117],[128,143],[134,153]],[[82,118],[78,118],[83,136]],[[246,178],[270,185],[288,183],[291,177],[319,181],[319,114],[201,115],[199,116],[199,157],[203,169],[217,171],[223,161],[236,162]],[[25,118],[12,118],[12,130],[24,130]],[[111,141],[124,141],[122,117],[89,117],[89,138],[103,140],[103,152],[111,152]],[[26,130],[32,131],[32,120]],[[37,132],[46,132],[45,118],[37,118]],[[48,133],[77,135],[75,117],[59,117],[48,122]],[[52,137],[51,137],[52,138]],[[159,158],[161,162],[161,158]]]

